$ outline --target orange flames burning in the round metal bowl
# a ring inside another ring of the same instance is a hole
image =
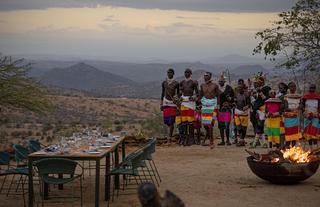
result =
[[[300,146],[293,146],[289,149],[281,150],[283,153],[283,158],[296,162],[296,163],[306,163],[310,162],[309,154],[311,153],[310,150],[304,151]]]

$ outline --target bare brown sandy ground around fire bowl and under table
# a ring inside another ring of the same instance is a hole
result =
[[[202,146],[158,147],[154,158],[162,177],[159,191],[163,194],[169,189],[186,206],[194,207],[320,206],[320,171],[297,185],[273,185],[250,171],[246,156],[244,148],[235,146],[216,147],[213,150]],[[104,182],[103,177],[101,179]],[[93,183],[94,176],[87,175],[84,206],[94,206]],[[0,206],[23,206],[21,196],[0,195],[0,201]],[[62,205],[72,206],[71,203],[48,203],[45,206]],[[79,202],[74,203],[74,206],[80,206]],[[100,206],[106,206],[102,195]],[[120,191],[120,196],[111,206],[139,206],[135,189]]]

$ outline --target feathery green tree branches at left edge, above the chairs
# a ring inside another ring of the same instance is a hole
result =
[[[49,111],[45,91],[27,77],[31,65],[23,59],[13,60],[0,54],[0,109],[27,109],[36,113]]]

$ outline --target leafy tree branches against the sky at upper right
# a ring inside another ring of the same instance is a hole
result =
[[[298,0],[290,11],[278,14],[273,28],[256,33],[260,39],[253,54],[265,58],[280,57],[278,67],[296,72],[319,70],[320,65],[320,0]]]

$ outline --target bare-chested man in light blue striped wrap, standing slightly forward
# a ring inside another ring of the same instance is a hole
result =
[[[213,140],[213,126],[214,126],[214,110],[217,107],[218,97],[220,95],[219,86],[214,83],[211,79],[212,74],[206,72],[204,74],[205,83],[200,86],[200,97],[201,98],[201,123],[206,129],[206,136],[202,141],[202,145],[205,144],[206,138],[210,140],[210,148],[214,147]]]

